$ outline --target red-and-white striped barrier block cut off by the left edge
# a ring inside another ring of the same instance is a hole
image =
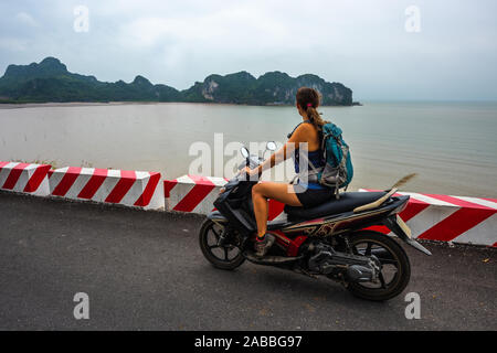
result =
[[[50,168],[47,164],[0,162],[0,189],[46,196],[50,194]]]

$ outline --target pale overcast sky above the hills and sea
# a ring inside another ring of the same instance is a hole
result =
[[[0,71],[55,56],[101,81],[179,89],[282,71],[341,82],[355,100],[497,100],[496,17],[495,0],[0,0]]]

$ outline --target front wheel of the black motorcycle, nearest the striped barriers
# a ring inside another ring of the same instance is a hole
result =
[[[230,239],[226,239],[225,244],[220,244],[220,238],[225,235],[224,232],[226,228],[222,223],[208,218],[200,228],[199,243],[209,263],[216,268],[232,270],[242,265],[245,257],[237,246],[230,244]]]

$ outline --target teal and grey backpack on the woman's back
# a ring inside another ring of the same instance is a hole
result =
[[[341,137],[341,129],[335,124],[322,126],[321,151],[325,152],[325,167],[318,173],[321,185],[334,188],[335,195],[339,199],[339,190],[349,185],[353,176],[352,160],[349,146]]]

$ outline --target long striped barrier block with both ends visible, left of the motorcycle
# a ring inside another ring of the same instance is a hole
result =
[[[165,208],[160,173],[65,167],[54,170],[49,182],[52,196]]]

